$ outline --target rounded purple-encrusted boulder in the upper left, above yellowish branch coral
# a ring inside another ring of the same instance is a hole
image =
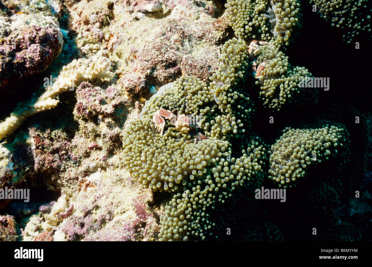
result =
[[[62,50],[63,34],[54,17],[17,12],[0,15],[0,93],[21,79],[45,71]]]

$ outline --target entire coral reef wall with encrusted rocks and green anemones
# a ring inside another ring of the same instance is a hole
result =
[[[0,189],[30,201],[0,200],[0,240],[371,241],[372,81],[341,68],[371,57],[318,16],[365,41],[370,12],[1,2]],[[304,88],[313,75],[330,90]]]

